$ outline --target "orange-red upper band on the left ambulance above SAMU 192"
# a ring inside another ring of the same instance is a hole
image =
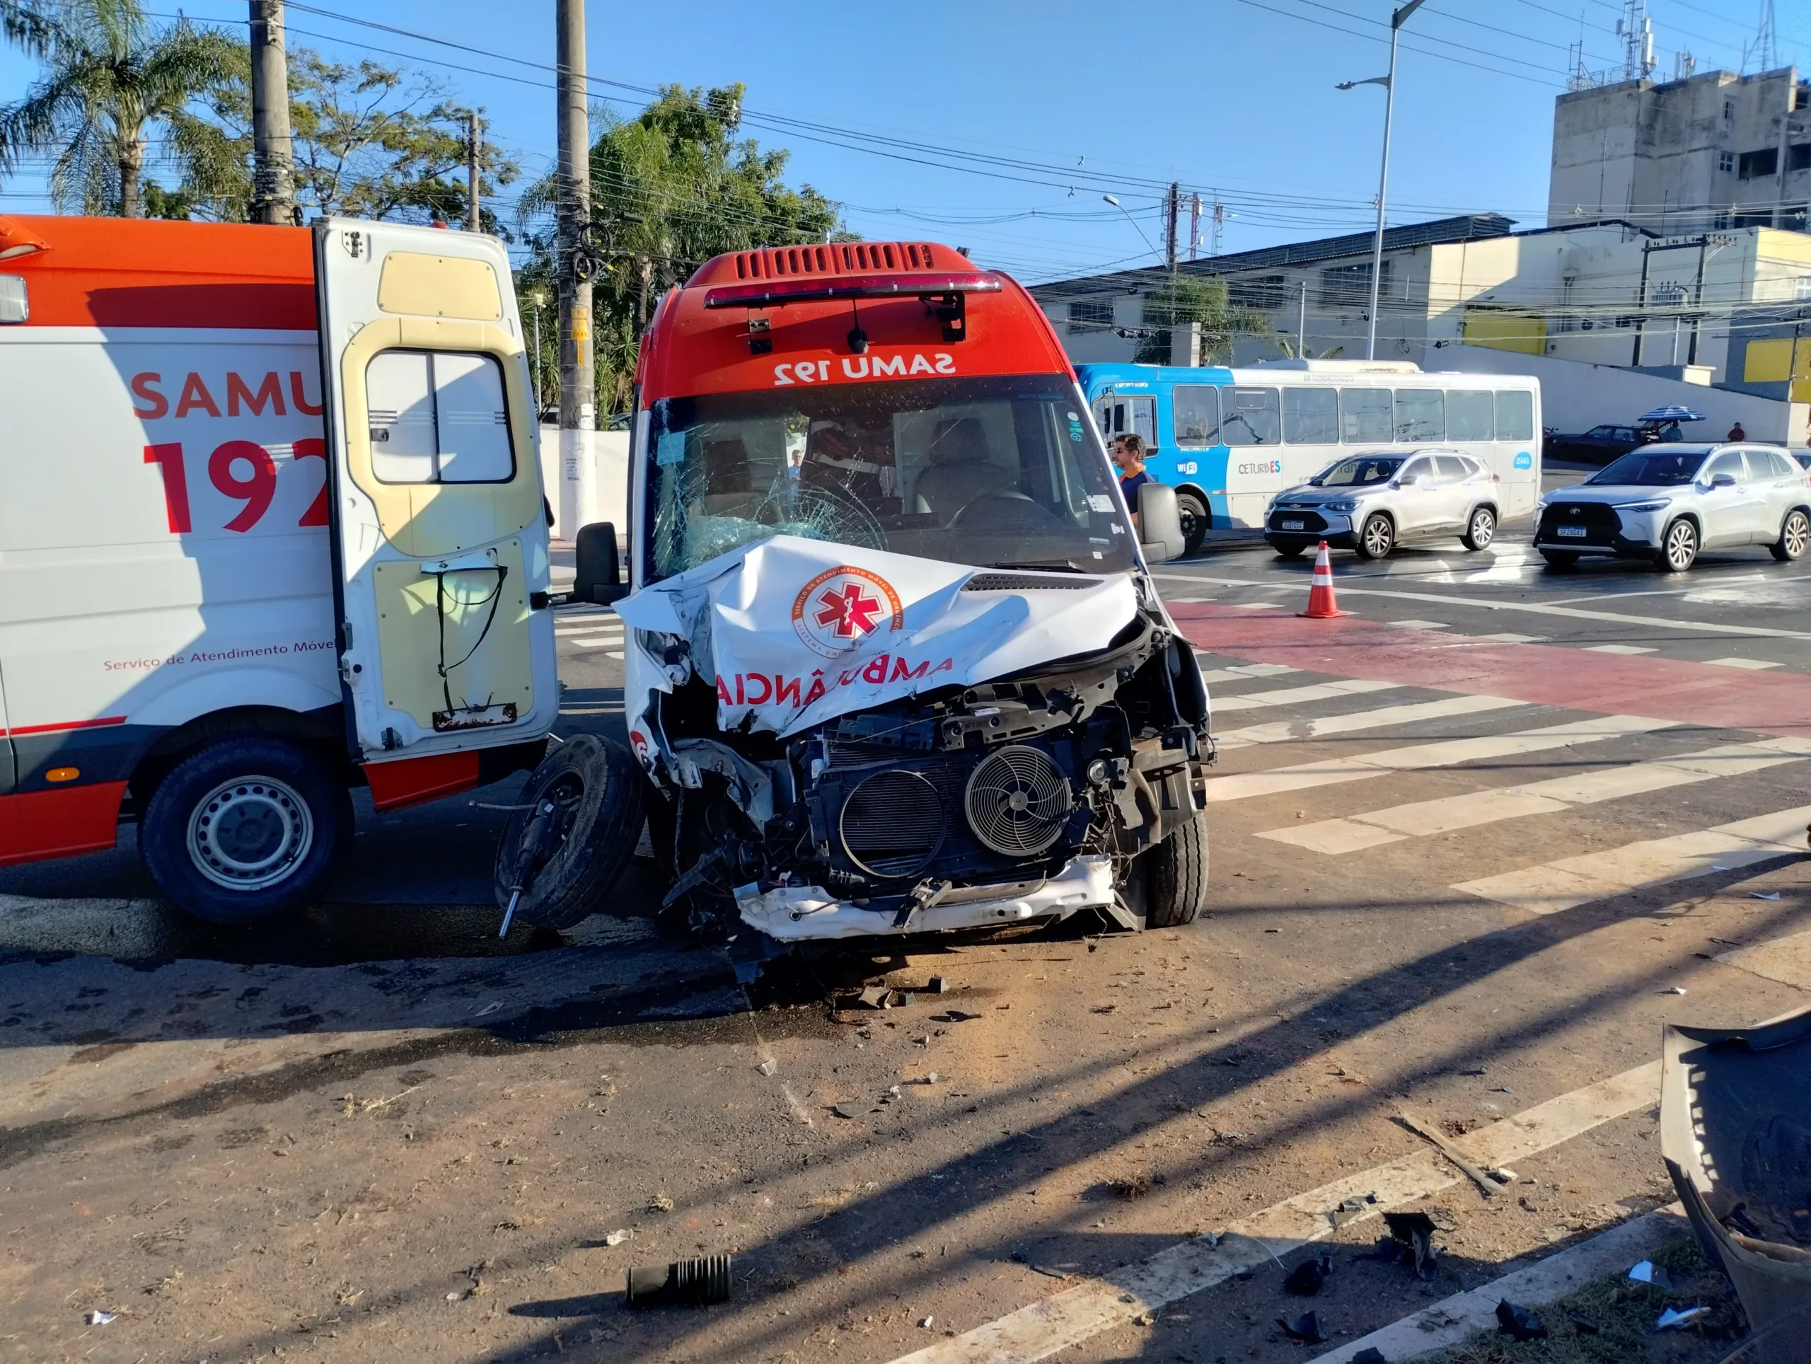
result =
[[[0,272],[25,277],[27,326],[315,330],[306,228],[0,216]]]

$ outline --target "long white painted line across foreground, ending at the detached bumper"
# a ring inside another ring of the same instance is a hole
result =
[[[1510,1165],[1648,1109],[1659,1101],[1659,1094],[1661,1063],[1648,1061],[1469,1132],[1465,1150],[1474,1165]],[[1461,1179],[1445,1156],[1420,1150],[1235,1221],[1217,1246],[1206,1237],[1183,1241],[973,1331],[902,1355],[893,1364],[1027,1364],[1049,1359],[1177,1299],[1222,1284],[1241,1270],[1268,1266],[1273,1257],[1324,1241],[1333,1235],[1331,1210],[1346,1199],[1376,1194],[1376,1205],[1358,1214],[1362,1219],[1429,1197]]]

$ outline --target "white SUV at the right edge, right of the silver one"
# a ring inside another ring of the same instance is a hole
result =
[[[1784,449],[1644,446],[1536,505],[1534,547],[1556,569],[1603,554],[1684,572],[1701,549],[1735,545],[1782,563],[1811,547],[1811,473]]]

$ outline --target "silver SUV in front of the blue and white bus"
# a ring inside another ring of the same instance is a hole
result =
[[[1349,455],[1264,509],[1264,540],[1284,558],[1326,540],[1380,560],[1405,540],[1496,540],[1496,475],[1456,449]]]

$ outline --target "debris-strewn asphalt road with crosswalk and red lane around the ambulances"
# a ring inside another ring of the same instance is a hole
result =
[[[1308,562],[1163,569],[1221,737],[1183,931],[752,991],[632,915],[500,944],[507,790],[364,821],[275,933],[188,926],[129,848],[0,873],[0,1359],[978,1359],[1116,1266],[1385,1186],[1427,1152],[1398,1107],[1487,1139],[1662,1020],[1811,1004],[1811,567],[1552,574],[1510,527],[1337,571],[1351,614],[1304,621]],[[621,725],[616,636],[561,612],[563,728]],[[1353,1339],[1670,1201],[1641,1083],[1501,1197],[1398,1190],[1443,1210],[1438,1284],[1362,1259],[1362,1221],[1308,1306]],[[706,1252],[728,1304],[623,1308],[628,1264]],[[1300,1359],[1279,1281],[1116,1290],[1063,1357]]]

